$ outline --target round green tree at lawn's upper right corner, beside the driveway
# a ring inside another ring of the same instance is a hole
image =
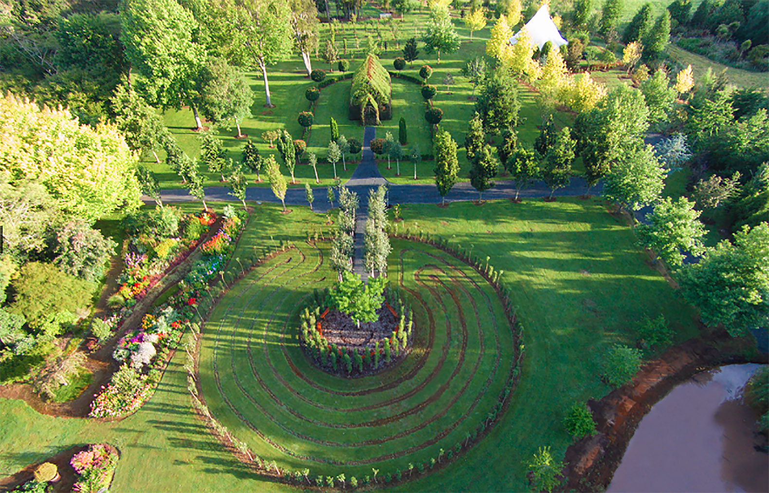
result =
[[[639,146],[612,165],[604,177],[604,196],[622,208],[638,211],[657,201],[666,174],[651,145]]]

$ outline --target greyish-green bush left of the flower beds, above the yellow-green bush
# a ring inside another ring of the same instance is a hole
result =
[[[56,233],[54,263],[69,275],[84,281],[98,281],[117,244],[82,221],[65,224]]]

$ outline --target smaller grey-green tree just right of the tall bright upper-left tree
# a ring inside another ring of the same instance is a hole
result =
[[[240,124],[251,116],[254,96],[245,77],[224,58],[210,58],[201,76],[201,113],[211,123],[231,120],[243,138]]]

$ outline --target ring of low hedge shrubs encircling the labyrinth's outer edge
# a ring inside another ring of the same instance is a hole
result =
[[[245,228],[244,228],[244,231],[245,231]],[[434,471],[438,471],[438,470],[441,470],[442,468],[448,467],[449,465],[454,463],[454,461],[458,461],[458,459],[461,458],[462,455],[464,455],[464,452],[469,451],[475,445],[478,445],[483,440],[483,438],[485,438],[485,436],[488,435],[489,432],[491,432],[491,429],[494,428],[494,426],[497,425],[499,421],[501,421],[502,416],[510,406],[511,395],[513,394],[513,391],[515,390],[515,388],[518,387],[518,382],[521,380],[521,361],[523,360],[524,353],[521,351],[521,344],[522,344],[521,341],[522,341],[523,335],[521,333],[520,325],[518,324],[518,317],[515,314],[514,308],[510,304],[509,295],[507,292],[505,292],[507,290],[504,288],[504,286],[501,285],[498,277],[492,278],[492,276],[488,274],[488,266],[484,271],[481,261],[476,261],[468,257],[467,255],[464,255],[464,253],[462,253],[460,250],[450,246],[448,244],[448,241],[445,240],[444,238],[438,238],[438,241],[436,241],[433,238],[423,238],[421,236],[409,235],[409,234],[400,234],[400,235],[391,234],[390,236],[391,238],[404,239],[411,242],[419,242],[425,245],[431,245],[434,248],[438,248],[439,250],[444,251],[445,253],[448,253],[448,255],[451,255],[452,257],[458,259],[459,261],[470,266],[476,272],[478,272],[478,275],[481,275],[481,277],[484,278],[484,280],[487,281],[492,288],[494,288],[494,291],[497,294],[498,300],[500,301],[502,307],[504,308],[504,314],[505,314],[505,317],[508,319],[508,324],[510,325],[510,329],[513,335],[513,341],[514,341],[514,363],[511,365],[511,368],[508,372],[509,387],[508,385],[506,385],[504,390],[501,392],[501,395],[500,395],[501,399],[498,400],[497,407],[494,408],[495,409],[494,415],[492,416],[490,413],[486,421],[481,421],[481,423],[478,425],[478,428],[480,428],[480,431],[476,433],[474,438],[468,438],[464,441],[464,446],[461,447],[460,452],[458,452],[455,455],[452,455],[451,458],[444,458],[444,460],[436,462],[433,467],[425,468],[423,472],[418,472],[418,471],[414,472],[413,470],[411,470],[409,472],[408,478],[403,478],[400,481],[393,480],[387,483],[388,487],[393,487],[400,484],[405,484],[406,482],[411,481],[412,479],[424,478],[425,476],[431,475]],[[240,240],[240,237],[238,237],[238,241],[239,240]],[[310,243],[308,242],[308,244]],[[185,365],[185,368],[189,366],[191,368],[191,371],[194,372],[196,395],[190,395],[192,408],[194,409],[195,414],[198,415],[198,418],[200,418],[201,421],[205,423],[206,427],[211,432],[211,435],[214,435],[214,437],[221,443],[221,445],[225,449],[230,451],[238,461],[241,461],[241,463],[248,465],[252,471],[255,471],[257,474],[262,475],[265,478],[270,478],[271,481],[281,482],[286,485],[306,486],[305,482],[301,481],[301,479],[300,480],[291,479],[290,471],[281,471],[277,465],[274,465],[274,464],[270,465],[266,461],[261,461],[261,459],[253,458],[251,451],[248,449],[248,445],[238,440],[238,438],[232,435],[227,428],[221,426],[221,424],[217,421],[217,419],[214,416],[212,416],[208,411],[208,407],[205,402],[205,396],[202,394],[202,388],[200,384],[200,375],[199,375],[199,357],[200,357],[200,349],[201,349],[201,338],[202,338],[202,335],[205,333],[206,321],[208,321],[208,318],[211,316],[211,313],[214,311],[219,301],[221,301],[221,298],[223,298],[231,290],[231,288],[237,285],[239,281],[241,281],[248,274],[250,274],[251,271],[253,271],[255,268],[264,264],[266,261],[269,261],[272,258],[275,258],[275,256],[295,248],[296,246],[295,246],[295,243],[293,242],[288,243],[281,248],[276,248],[274,251],[271,251],[268,254],[266,254],[263,258],[260,258],[258,259],[258,261],[255,261],[248,269],[245,269],[245,271],[241,271],[241,273],[236,275],[235,278],[233,278],[228,285],[224,285],[221,288],[221,290],[218,291],[215,298],[212,298],[211,300],[212,301],[211,306],[203,314],[201,314],[200,335],[195,341],[195,347],[193,351],[187,351],[188,362],[187,362],[187,365]],[[381,486],[384,486],[384,485],[385,485],[384,483],[381,484]],[[311,485],[311,486],[314,486],[314,485]],[[376,482],[375,484],[370,483],[369,485],[358,487],[358,488],[351,488],[349,485],[345,485],[344,489],[357,490],[357,491],[370,491],[375,488],[378,488],[379,486],[380,484]],[[336,486],[335,488],[341,489]],[[322,489],[325,490],[326,488],[322,488]]]

